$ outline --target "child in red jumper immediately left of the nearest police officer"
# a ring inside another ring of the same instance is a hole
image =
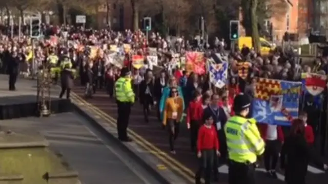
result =
[[[200,126],[197,138],[197,157],[201,162],[195,177],[196,184],[200,184],[203,173],[205,183],[211,183],[213,160],[215,156],[220,156],[219,140],[213,125],[213,117],[206,113],[203,114],[203,120],[205,123]]]

